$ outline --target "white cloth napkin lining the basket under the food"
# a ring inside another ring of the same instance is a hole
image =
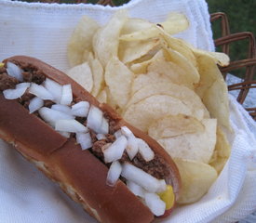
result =
[[[182,12],[190,27],[178,36],[199,48],[214,50],[204,0],[133,0],[123,7],[2,0],[0,59],[28,55],[65,72],[67,41],[81,16],[88,15],[102,24],[119,8],[128,8],[131,17],[155,22],[165,20],[171,11]],[[230,108],[235,133],[230,136],[232,153],[222,174],[199,202],[176,209],[161,222],[234,222],[256,210],[256,125],[232,96]],[[0,141],[0,198],[0,222],[96,222],[3,141]]]

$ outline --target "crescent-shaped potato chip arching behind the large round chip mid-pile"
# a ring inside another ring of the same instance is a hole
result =
[[[158,82],[143,86],[129,99],[127,107],[154,95],[168,95],[172,98],[177,98],[190,109],[191,114],[197,119],[209,118],[209,112],[194,91],[183,85],[175,85],[171,82]]]

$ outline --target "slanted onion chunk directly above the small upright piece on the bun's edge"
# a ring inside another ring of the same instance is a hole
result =
[[[105,163],[111,163],[119,160],[128,144],[126,137],[122,136],[117,138],[114,143],[111,144],[107,149],[103,150]]]

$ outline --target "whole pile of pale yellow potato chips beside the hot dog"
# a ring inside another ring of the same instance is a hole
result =
[[[230,154],[222,131],[230,129],[227,87],[217,66],[229,59],[172,36],[188,26],[178,13],[155,24],[120,10],[104,26],[84,16],[68,44],[68,74],[174,159],[179,203],[198,201]]]

